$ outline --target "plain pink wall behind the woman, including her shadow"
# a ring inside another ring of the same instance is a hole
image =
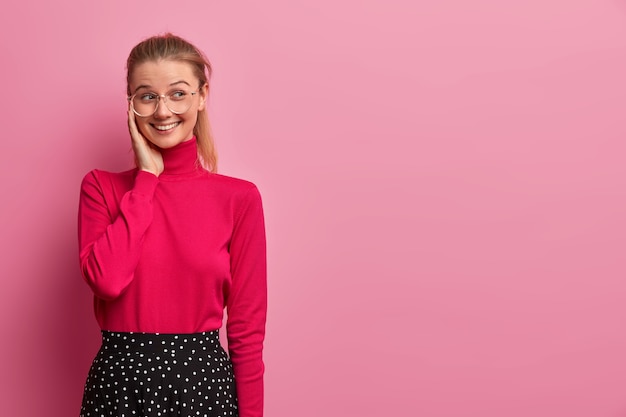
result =
[[[2,415],[78,415],[78,188],[171,30],[264,198],[267,416],[626,416],[626,2],[38,3],[0,15]]]

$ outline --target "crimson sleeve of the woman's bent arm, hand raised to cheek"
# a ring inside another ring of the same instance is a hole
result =
[[[158,178],[137,171],[132,188],[119,209],[107,201],[112,193],[100,171],[88,173],[81,184],[78,211],[80,268],[94,294],[111,300],[132,281],[144,234],[152,221],[152,197]]]

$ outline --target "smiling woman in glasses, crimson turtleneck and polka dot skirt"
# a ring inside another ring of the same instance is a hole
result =
[[[81,417],[262,416],[263,209],[254,184],[215,172],[211,67],[166,34],[127,69],[137,167],[81,185],[80,266],[102,329]]]

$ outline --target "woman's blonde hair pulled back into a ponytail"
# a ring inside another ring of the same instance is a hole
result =
[[[162,59],[182,61],[191,65],[193,73],[200,81],[200,87],[209,84],[211,64],[204,53],[183,38],[165,33],[152,36],[137,44],[128,55],[126,61],[126,89],[130,95],[130,77],[135,67],[148,61]],[[209,124],[207,107],[198,111],[198,119],[193,128],[198,144],[198,157],[202,165],[210,172],[217,172],[217,153]]]

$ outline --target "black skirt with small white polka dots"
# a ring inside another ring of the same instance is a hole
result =
[[[218,331],[103,331],[80,416],[238,416],[233,367]]]

